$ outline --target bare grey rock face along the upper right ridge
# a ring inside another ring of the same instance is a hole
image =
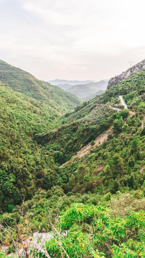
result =
[[[136,73],[137,71],[139,71],[140,69],[145,68],[145,59],[142,60],[141,62],[135,64],[134,66],[132,66],[131,68],[129,68],[127,71],[122,72],[122,74],[112,77],[109,82],[108,82],[108,86],[107,89],[109,89],[110,87],[116,85],[117,83],[119,83],[120,81],[128,78],[129,76],[131,76],[133,73]]]

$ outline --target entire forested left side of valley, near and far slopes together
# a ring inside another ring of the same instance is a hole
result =
[[[40,171],[46,178],[44,189],[49,189],[54,185],[52,182],[57,181],[58,167],[55,169],[53,157],[34,141],[34,135],[57,128],[61,115],[79,103],[79,99],[57,86],[39,81],[29,73],[0,61],[2,208],[8,208],[10,203],[20,203],[22,192],[26,199],[32,198],[39,187],[39,175],[36,174]]]

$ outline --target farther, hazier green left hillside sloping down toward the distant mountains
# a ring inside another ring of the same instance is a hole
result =
[[[0,81],[8,84],[14,91],[19,91],[39,100],[41,103],[45,103],[48,105],[48,109],[53,110],[57,115],[59,112],[66,113],[71,111],[81,103],[77,97],[64,92],[59,87],[37,80],[30,73],[1,60]]]

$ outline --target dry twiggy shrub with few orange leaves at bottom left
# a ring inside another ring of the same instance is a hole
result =
[[[34,230],[31,230],[30,227],[30,221],[27,219],[27,215],[24,214],[24,198],[22,199],[22,207],[21,207],[21,215],[20,215],[20,221],[19,223],[17,222],[17,219],[12,218],[11,216],[8,216],[7,214],[3,213],[2,210],[0,212],[3,214],[3,219],[0,221],[0,237],[1,241],[4,241],[3,243],[5,245],[10,245],[10,241],[12,242],[11,244],[11,249],[14,251],[14,256],[9,255],[8,257],[19,257],[19,258],[35,258],[35,257],[47,257],[47,258],[52,258],[54,257],[54,250],[52,246],[54,247],[54,243],[56,246],[58,246],[58,254],[60,254],[59,257],[64,258],[70,258],[70,256],[67,254],[65,248],[64,248],[64,235],[61,234],[61,228],[55,229],[55,226],[53,225],[51,219],[50,219],[50,224],[51,228],[53,230],[52,236],[51,236],[51,241],[46,243],[46,240],[43,239],[42,236],[39,236],[36,234],[35,238],[33,238]],[[51,217],[51,213],[50,213]],[[57,221],[57,216],[56,216],[56,221]],[[10,225],[12,221],[12,226]],[[40,225],[39,225],[40,229]],[[80,250],[79,252],[82,251],[82,253],[85,254],[85,251],[91,247],[91,244],[89,242],[86,243],[86,250],[84,250],[84,246],[80,243],[79,239],[79,233],[78,236],[76,236],[76,240],[78,240],[78,245],[80,245]],[[72,236],[70,236],[70,239],[72,239]],[[69,243],[70,239],[67,238],[68,242],[68,248],[69,248]],[[62,243],[61,243],[61,240]],[[86,237],[82,236],[82,243],[84,241],[87,241]],[[51,243],[54,242],[51,246]],[[49,249],[51,246],[51,249]],[[74,241],[72,243],[72,246],[74,247]],[[77,244],[76,244],[77,246]],[[1,247],[1,245],[0,245]],[[93,249],[93,248],[92,248]],[[74,248],[75,250],[75,248]],[[55,248],[56,251],[56,248]],[[50,254],[52,256],[50,257]],[[0,251],[0,258],[7,257],[4,252]],[[57,256],[58,257],[58,256]],[[77,257],[76,257],[77,258]]]

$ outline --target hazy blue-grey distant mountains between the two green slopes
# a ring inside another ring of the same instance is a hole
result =
[[[53,80],[48,81],[51,84],[57,85],[64,91],[70,92],[73,95],[76,95],[78,98],[82,100],[89,100],[93,97],[98,95],[97,93],[101,94],[106,90],[108,85],[108,80],[101,80],[97,81],[67,81],[67,80]],[[58,83],[59,82],[59,83]],[[60,83],[61,82],[61,83]],[[74,85],[74,83],[76,83]],[[58,84],[57,84],[58,83]],[[71,84],[72,83],[72,84]]]

